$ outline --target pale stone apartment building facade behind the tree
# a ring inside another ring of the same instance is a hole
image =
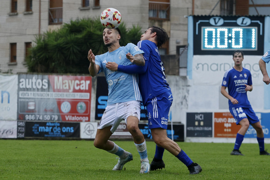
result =
[[[257,4],[254,6],[252,2]],[[269,3],[266,0],[2,0],[1,72],[27,72],[25,59],[28,48],[35,46],[35,36],[61,28],[70,20],[99,17],[109,7],[121,12],[127,28],[138,24],[143,31],[152,25],[166,29],[170,39],[160,52],[174,55],[179,54],[180,47],[187,47],[187,16],[256,15],[258,9],[267,13],[263,8],[269,8]]]

